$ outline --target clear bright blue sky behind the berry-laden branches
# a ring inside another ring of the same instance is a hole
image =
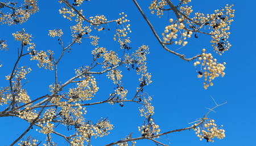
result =
[[[138,1],[144,14],[150,20],[155,28],[155,31],[160,35],[164,27],[168,25],[168,19],[175,19],[175,15],[168,12],[158,18],[152,15],[148,6],[151,1]],[[174,2],[179,3],[179,2]],[[147,70],[152,75],[152,83],[144,88],[148,95],[152,96],[152,105],[155,108],[153,115],[156,124],[159,125],[161,132],[175,130],[177,128],[185,128],[191,125],[188,122],[196,121],[197,118],[203,118],[208,113],[208,109],[215,106],[214,98],[217,104],[222,104],[228,100],[228,103],[222,105],[208,115],[208,118],[214,119],[217,125],[224,125],[226,137],[218,140],[214,139],[214,143],[207,143],[205,140],[200,141],[194,131],[175,132],[168,135],[170,145],[254,145],[255,138],[254,126],[256,104],[255,91],[255,19],[253,10],[256,4],[255,1],[192,1],[193,12],[203,12],[204,14],[212,14],[214,10],[225,7],[226,4],[234,5],[235,17],[234,22],[230,25],[229,42],[232,47],[222,56],[213,53],[213,48],[210,45],[210,36],[199,34],[199,38],[188,38],[188,45],[179,49],[177,52],[185,54],[187,58],[191,58],[196,54],[200,54],[202,49],[206,49],[208,53],[212,53],[218,62],[226,62],[226,75],[224,78],[218,77],[213,81],[213,87],[207,90],[203,88],[203,78],[197,78],[197,72],[193,66],[193,62],[186,62],[174,54],[168,53],[162,48],[158,40],[148,27],[147,23],[135,7],[133,1],[84,1],[81,8],[84,16],[89,18],[97,14],[105,15],[108,20],[119,18],[119,13],[125,12],[127,19],[130,20],[131,53],[142,44],[150,48],[150,54],[147,55]],[[20,42],[14,41],[11,35],[14,32],[22,31],[22,28],[27,33],[34,37],[32,42],[36,44],[36,50],[51,49],[58,56],[61,53],[61,47],[58,44],[57,38],[48,36],[48,31],[53,29],[62,29],[64,43],[67,45],[71,42],[70,27],[75,25],[75,21],[70,22],[63,19],[59,14],[59,9],[65,7],[64,4],[59,4],[57,1],[39,1],[39,12],[32,15],[27,23],[22,25],[1,25],[0,39],[7,40],[9,45],[8,51],[1,51],[0,61],[3,65],[0,70],[1,87],[8,85],[5,76],[9,75],[17,57],[17,48],[20,48]],[[80,8],[79,8],[80,10]],[[106,47],[108,50],[120,50],[118,42],[113,40],[116,24],[109,24],[110,31],[96,32],[93,30],[93,35],[100,37],[98,46]],[[86,66],[92,61],[90,52],[95,47],[90,45],[90,40],[84,40],[80,45],[73,45],[71,53],[64,54],[63,59],[59,64],[59,81],[64,83],[66,80],[75,76],[75,68]],[[168,46],[171,50],[180,48],[177,45]],[[30,57],[24,57],[19,62],[19,66],[30,66],[32,71],[27,75],[28,83],[24,88],[27,89],[28,95],[32,99],[50,94],[48,86],[54,81],[54,72],[46,71],[36,65],[36,61],[30,61]],[[128,89],[128,97],[133,97],[135,89],[139,85],[135,70],[123,70],[123,87]],[[96,68],[95,71],[100,71]],[[103,75],[94,75],[97,80],[97,86],[100,87],[97,95],[90,102],[102,101],[107,98],[109,93],[115,87],[112,81]],[[72,87],[72,85],[71,85]],[[67,88],[66,88],[67,89]],[[110,131],[110,135],[103,138],[92,139],[92,145],[105,145],[125,138],[133,132],[132,137],[141,136],[138,132],[138,126],[144,122],[141,117],[138,107],[140,105],[134,103],[125,103],[123,108],[119,105],[93,105],[87,106],[86,118],[97,122],[98,119],[108,117],[110,122],[114,124],[114,129]],[[2,111],[5,105],[0,107]],[[29,126],[25,121],[18,118],[3,117],[0,120],[1,127],[1,142],[0,145],[10,145],[18,135],[22,134]],[[70,135],[74,131],[67,131],[67,127],[57,129],[63,134]],[[39,134],[33,130],[28,132],[31,136],[36,136],[44,143],[45,135]],[[53,141],[59,145],[66,145],[63,138],[52,134]],[[164,144],[169,144],[167,137],[162,136],[158,139]],[[137,145],[155,145],[150,140],[139,140]]]

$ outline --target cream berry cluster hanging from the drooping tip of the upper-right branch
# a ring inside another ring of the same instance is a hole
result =
[[[223,77],[225,75],[225,72],[223,71],[226,68],[224,66],[226,63],[218,63],[217,59],[213,58],[212,54],[205,53],[205,49],[203,49],[203,52],[202,57],[199,57],[199,61],[194,62],[194,66],[201,65],[201,70],[197,77],[202,78],[204,76],[204,88],[207,89],[209,85],[213,85],[211,81],[214,80],[214,78],[220,75]],[[207,84],[206,81],[209,81],[209,84]]]

